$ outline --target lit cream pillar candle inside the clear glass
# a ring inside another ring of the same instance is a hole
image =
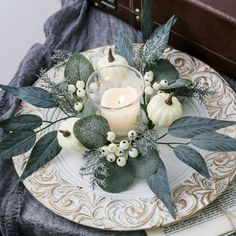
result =
[[[138,91],[133,87],[110,88],[101,99],[101,115],[117,135],[127,135],[137,120],[140,110]]]

